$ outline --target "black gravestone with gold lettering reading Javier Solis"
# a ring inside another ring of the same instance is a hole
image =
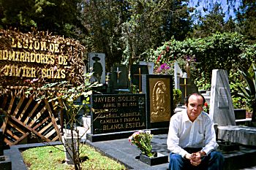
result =
[[[145,129],[145,100],[145,94],[91,95],[91,134],[87,139],[121,139],[130,135],[127,132]]]

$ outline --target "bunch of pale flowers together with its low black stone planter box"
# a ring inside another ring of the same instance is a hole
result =
[[[132,134],[132,136],[129,136],[129,142],[138,147],[141,152],[139,160],[143,163],[147,163],[150,166],[160,163],[167,163],[168,156],[162,155],[161,153],[152,152],[152,138],[153,134],[151,134],[151,131],[136,131]]]

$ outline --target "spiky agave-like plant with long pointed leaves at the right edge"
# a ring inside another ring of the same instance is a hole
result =
[[[246,88],[238,86],[239,96],[246,98],[246,106],[252,112],[252,124],[256,122],[256,66],[252,63],[252,73],[244,68],[238,69],[246,82]]]

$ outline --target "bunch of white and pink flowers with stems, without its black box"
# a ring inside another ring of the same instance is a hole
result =
[[[129,136],[129,142],[131,144],[135,144],[136,147],[142,152],[143,155],[147,155],[148,157],[153,157],[151,139],[153,138],[153,134],[151,131],[136,131]]]

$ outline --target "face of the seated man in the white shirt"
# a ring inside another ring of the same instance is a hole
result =
[[[192,95],[189,97],[189,103],[187,104],[187,115],[189,120],[194,122],[197,116],[203,111],[203,98],[201,96]]]

